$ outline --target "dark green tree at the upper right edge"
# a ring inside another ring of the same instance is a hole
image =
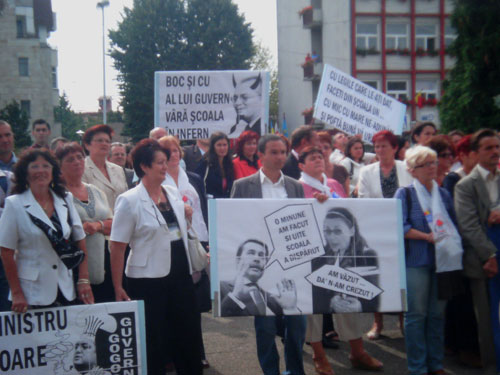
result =
[[[443,82],[439,104],[444,131],[467,133],[483,127],[498,129],[500,108],[500,2],[456,0],[451,16],[457,38],[449,48],[456,58],[450,77]]]

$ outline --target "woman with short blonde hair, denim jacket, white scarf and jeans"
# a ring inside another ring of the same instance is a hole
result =
[[[462,268],[460,236],[449,193],[435,179],[437,154],[416,146],[406,152],[415,181],[400,188],[403,205],[408,311],[405,339],[410,374],[444,374],[444,308],[436,272]],[[451,242],[450,242],[451,241]],[[452,246],[449,246],[453,243]],[[436,249],[437,247],[437,249]]]

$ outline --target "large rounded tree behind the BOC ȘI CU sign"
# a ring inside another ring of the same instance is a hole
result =
[[[109,37],[133,141],[153,126],[155,71],[247,69],[254,52],[231,0],[134,0]]]

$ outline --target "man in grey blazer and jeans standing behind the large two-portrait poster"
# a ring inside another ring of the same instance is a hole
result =
[[[231,198],[304,198],[302,185],[281,173],[286,160],[286,144],[277,135],[260,138],[258,145],[262,169],[236,181]],[[306,318],[300,315],[256,316],[257,356],[264,375],[279,375],[279,355],[276,349],[276,320],[285,324],[286,370],[292,375],[304,375],[302,347],[305,340]]]

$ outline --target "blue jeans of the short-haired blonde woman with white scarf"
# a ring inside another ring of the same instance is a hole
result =
[[[443,368],[444,308],[438,300],[437,277],[432,267],[407,267],[408,312],[405,341],[411,375]]]

